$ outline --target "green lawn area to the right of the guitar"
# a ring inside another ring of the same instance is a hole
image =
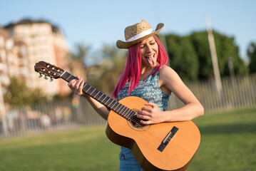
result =
[[[256,169],[256,108],[206,113],[195,123],[201,144],[188,170]]]

